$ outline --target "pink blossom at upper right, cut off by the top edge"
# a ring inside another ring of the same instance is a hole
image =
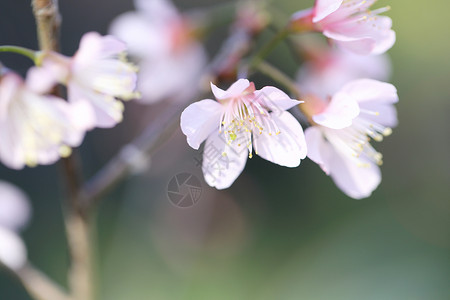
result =
[[[392,20],[379,14],[384,7],[369,10],[376,0],[316,0],[314,8],[297,12],[293,29],[322,32],[342,48],[356,54],[381,54],[395,43]]]

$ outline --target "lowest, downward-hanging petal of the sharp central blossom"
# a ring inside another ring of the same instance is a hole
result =
[[[239,177],[247,162],[245,145],[228,145],[223,134],[211,134],[203,150],[202,170],[208,185],[219,190],[229,188]]]

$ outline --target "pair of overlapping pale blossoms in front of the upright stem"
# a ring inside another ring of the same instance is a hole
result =
[[[0,161],[13,169],[52,164],[70,155],[87,130],[120,122],[117,98],[137,96],[136,68],[125,50],[118,39],[90,32],[73,57],[37,52],[25,80],[2,68]],[[67,101],[53,95],[58,84],[67,88]]]

